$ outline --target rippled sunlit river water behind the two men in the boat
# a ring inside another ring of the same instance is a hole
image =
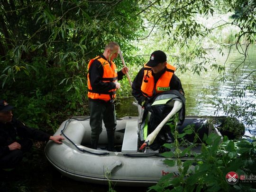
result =
[[[239,49],[241,52],[242,50]],[[207,72],[201,73],[201,75],[191,74],[186,72],[181,74],[179,70],[175,74],[181,79],[183,89],[186,98],[186,115],[199,115],[199,116],[222,116],[225,115],[223,111],[219,111],[217,114],[216,107],[213,104],[215,97],[219,99],[226,99],[232,92],[234,83],[238,82],[242,78],[251,74],[256,75],[256,44],[250,45],[248,49],[249,57],[246,58],[245,64],[238,67],[243,61],[244,57],[234,47],[230,50],[223,50],[224,54],[219,54],[217,50],[208,50],[208,54],[216,58],[216,64],[224,65],[226,67],[225,75],[228,81],[221,83],[219,81],[218,72],[207,70]],[[229,58],[227,59],[227,56]],[[235,70],[238,67],[237,70]],[[234,75],[234,71],[236,71]],[[245,86],[248,83],[249,78],[238,84],[237,87]],[[255,88],[254,84],[254,88]],[[250,103],[256,104],[256,96],[252,93],[246,92],[245,100]],[[232,100],[239,100],[239,98],[232,98]],[[137,116],[137,108],[132,105],[133,98],[122,99],[121,103],[117,105],[117,116]],[[252,109],[249,109],[252,110]],[[255,117],[254,117],[255,118]],[[242,119],[240,119],[242,120]],[[246,122],[243,122],[246,123]],[[247,126],[246,135],[256,135],[256,125]]]

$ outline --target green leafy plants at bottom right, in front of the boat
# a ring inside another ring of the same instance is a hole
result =
[[[177,117],[174,117],[174,122]],[[256,138],[229,140],[227,136],[221,138],[217,134],[204,135],[202,141],[193,126],[187,126],[179,134],[176,123],[169,125],[174,135],[174,143],[164,146],[171,151],[162,155],[169,167],[177,166],[178,175],[173,173],[164,175],[159,182],[149,187],[148,192],[256,192],[255,181],[239,180],[231,185],[226,181],[230,171],[238,175],[256,175]],[[186,134],[195,134],[197,143],[189,143],[182,138]],[[198,141],[201,141],[198,142]],[[193,152],[195,146],[201,145],[200,153]],[[173,150],[174,149],[174,150]],[[172,151],[173,150],[173,151]],[[186,157],[184,160],[183,157]]]

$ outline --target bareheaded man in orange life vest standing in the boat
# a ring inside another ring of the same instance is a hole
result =
[[[117,72],[113,62],[118,57],[119,45],[110,42],[103,54],[90,60],[88,64],[88,98],[90,107],[91,148],[97,149],[99,136],[102,131],[102,119],[108,135],[108,150],[114,150],[114,134],[117,125],[114,99],[116,90],[120,88],[122,77],[128,72],[123,67]]]

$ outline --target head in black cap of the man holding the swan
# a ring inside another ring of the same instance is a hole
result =
[[[155,50],[149,58],[149,61],[146,63],[146,66],[152,67],[153,73],[157,74],[161,72],[166,64],[167,57],[162,50]]]

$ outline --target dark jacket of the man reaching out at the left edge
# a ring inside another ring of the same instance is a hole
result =
[[[0,123],[0,157],[9,152],[8,145],[19,139],[28,138],[37,141],[48,141],[51,135],[37,129],[28,128],[21,121],[12,119],[11,122]]]

